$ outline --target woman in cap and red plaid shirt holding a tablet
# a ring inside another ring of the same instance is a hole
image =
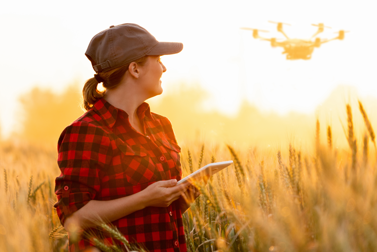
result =
[[[150,251],[187,250],[182,213],[190,203],[185,199],[198,192],[176,185],[182,169],[172,125],[144,102],[162,93],[160,55],[182,49],[131,23],[110,26],[90,41],[85,54],[96,74],[83,88],[87,112],[58,140],[55,207],[69,233],[100,218]],[[97,90],[101,82],[104,92]],[[69,251],[90,246],[69,238]]]

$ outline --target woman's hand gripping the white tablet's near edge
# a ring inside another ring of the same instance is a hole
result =
[[[167,207],[173,201],[178,200],[190,186],[189,182],[176,185],[177,180],[162,180],[153,183],[141,191],[145,196],[145,207]]]

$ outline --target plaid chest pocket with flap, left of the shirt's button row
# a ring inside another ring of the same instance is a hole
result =
[[[156,180],[156,166],[144,147],[120,145],[118,148],[124,154],[122,170],[129,183],[138,185]]]

